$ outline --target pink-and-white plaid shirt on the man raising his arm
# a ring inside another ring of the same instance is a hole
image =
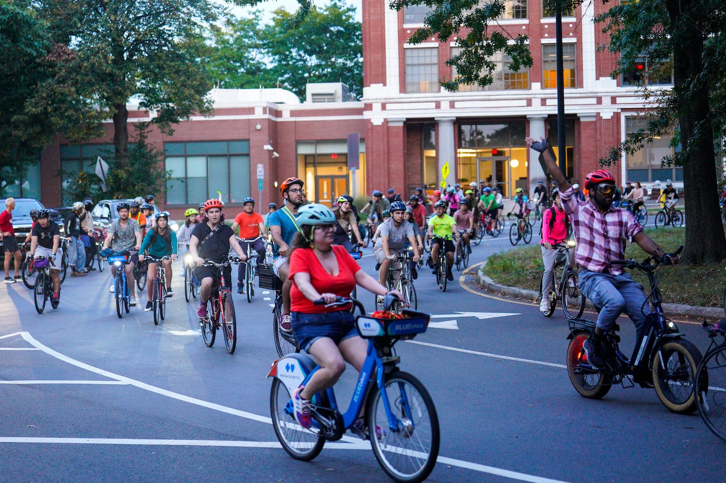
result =
[[[571,217],[577,240],[575,260],[586,270],[620,275],[622,265],[611,265],[610,260],[622,260],[625,242],[643,227],[628,210],[611,207],[603,214],[592,202],[581,201],[573,194],[572,188],[562,193],[562,205]]]

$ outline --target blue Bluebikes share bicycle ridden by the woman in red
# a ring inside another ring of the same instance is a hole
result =
[[[390,308],[394,297],[386,296]],[[317,305],[325,302],[317,300]],[[306,384],[318,367],[305,354],[283,356],[267,374],[273,377],[270,391],[272,426],[285,451],[293,458],[310,461],[319,455],[325,441],[337,441],[347,429],[369,439],[383,471],[396,482],[421,482],[431,474],[439,455],[439,418],[433,400],[421,382],[399,371],[400,358],[393,345],[425,332],[431,315],[404,310],[405,318],[375,318],[365,315],[363,305],[338,297],[333,304],[354,304],[362,315],[356,318],[368,351],[348,410],[341,414],[333,388],[312,398],[312,426],[303,429],[295,421],[290,395]],[[363,415],[362,426],[356,425]]]

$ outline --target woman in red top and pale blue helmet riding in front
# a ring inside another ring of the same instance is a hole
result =
[[[293,331],[301,349],[312,355],[320,367],[304,387],[295,389],[292,400],[295,420],[309,428],[312,396],[333,387],[345,371],[346,361],[360,371],[368,348],[358,335],[348,307],[325,307],[313,301],[330,303],[335,302],[335,297],[349,297],[356,284],[374,294],[392,293],[399,300],[403,297],[396,291],[386,292],[386,287],[362,271],[344,247],[333,244],[336,222],[330,208],[301,207],[296,222],[300,232],[290,244]]]

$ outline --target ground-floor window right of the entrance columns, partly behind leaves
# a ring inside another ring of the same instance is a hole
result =
[[[641,117],[625,118],[625,132],[628,134],[643,128],[644,125],[645,122]],[[635,154],[626,154],[625,166],[628,180],[640,182],[665,181],[666,179],[683,181],[683,168],[661,167],[661,160],[673,154],[671,138],[671,134],[664,134],[645,144],[643,149]]]

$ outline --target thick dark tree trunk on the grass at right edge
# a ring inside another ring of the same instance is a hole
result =
[[[680,25],[680,38],[674,39],[674,90],[683,99],[678,107],[682,149],[693,142],[698,153],[683,166],[685,189],[685,249],[682,262],[688,264],[719,263],[726,258],[726,236],[718,203],[714,133],[709,117],[709,87],[699,79],[703,73],[704,39],[698,20],[684,18],[692,2],[667,2],[669,16]],[[705,14],[702,14],[705,15]],[[695,80],[698,85],[691,87]],[[690,92],[689,92],[690,91]],[[696,128],[700,135],[694,138]],[[668,250],[671,247],[663,247]]]

